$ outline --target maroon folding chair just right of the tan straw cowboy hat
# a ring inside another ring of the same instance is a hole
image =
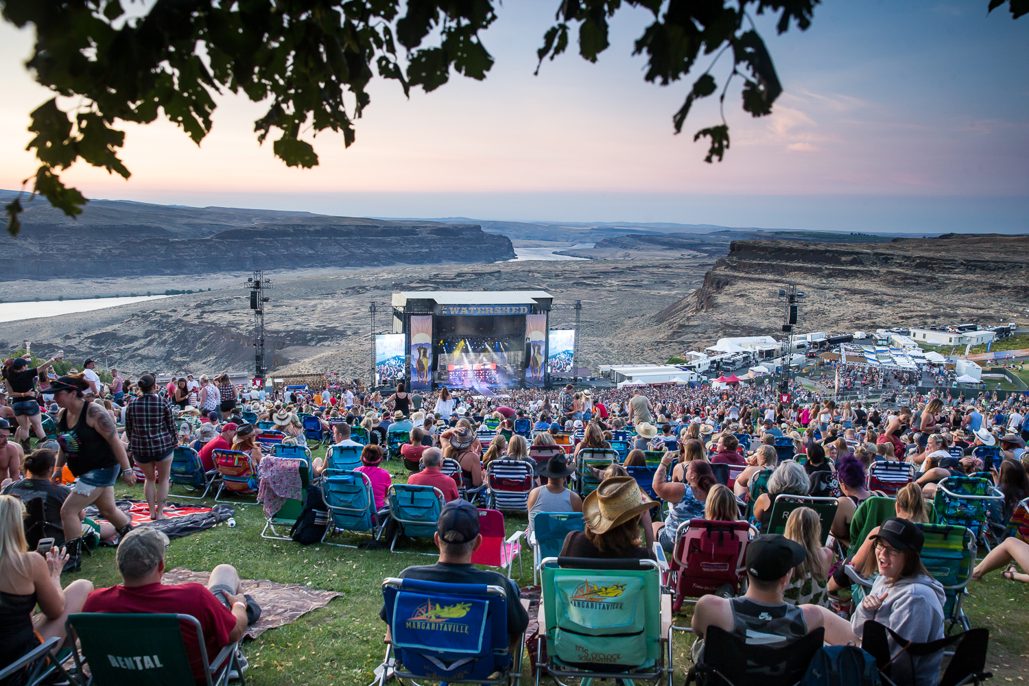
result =
[[[668,581],[672,612],[678,613],[687,600],[715,593],[728,586],[733,597],[740,594],[746,580],[744,555],[757,530],[746,521],[689,519],[675,532],[675,547],[669,561]]]

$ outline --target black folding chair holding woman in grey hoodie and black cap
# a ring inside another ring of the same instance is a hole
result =
[[[876,658],[876,666],[879,667],[879,675],[884,686],[897,686],[893,681],[896,678],[892,673],[893,663],[901,660],[899,664],[907,666],[904,655],[898,654],[895,658],[892,656],[887,635],[893,638],[895,645],[903,646],[903,653],[916,657],[931,655],[957,643],[954,656],[948,663],[947,670],[944,671],[938,686],[962,686],[969,683],[978,686],[993,676],[992,673],[983,671],[986,669],[986,652],[990,641],[990,629],[988,628],[966,629],[961,634],[929,643],[911,643],[906,638],[898,636],[896,631],[880,624],[875,619],[870,619],[864,622],[862,629],[861,649]]]

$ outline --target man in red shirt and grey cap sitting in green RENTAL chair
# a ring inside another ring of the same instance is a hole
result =
[[[192,615],[204,631],[209,660],[225,646],[243,638],[247,628],[247,600],[240,592],[240,577],[229,565],[218,565],[211,572],[207,587],[199,583],[164,585],[165,547],[168,537],[151,527],[137,527],[118,545],[115,562],[121,583],[98,588],[90,593],[82,612],[128,614],[180,613]],[[189,664],[198,683],[206,683],[197,630],[182,624],[182,643],[189,654]],[[134,665],[138,671],[138,663]],[[147,669],[144,666],[142,669]],[[126,683],[136,672],[126,673]]]

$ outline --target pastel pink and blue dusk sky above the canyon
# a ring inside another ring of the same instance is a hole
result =
[[[673,136],[691,80],[643,81],[645,11],[618,14],[597,64],[566,55],[533,76],[557,4],[500,7],[486,81],[406,100],[377,79],[357,143],[314,139],[313,170],[258,146],[262,108],[225,96],[199,148],[165,120],[127,125],[129,181],[84,165],[64,178],[91,197],[358,216],[1029,231],[1029,17],[988,16],[987,0],[828,0],[783,36],[765,17],[786,92],[758,119],[733,94],[732,148],[707,165],[693,132],[717,122],[715,103]],[[32,39],[0,24],[2,188],[35,169],[28,113],[49,96],[23,66]]]

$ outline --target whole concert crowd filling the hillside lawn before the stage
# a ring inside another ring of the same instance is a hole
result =
[[[92,361],[81,373],[51,377],[47,367],[59,357],[35,367],[17,358],[3,371],[0,616],[6,621],[0,622],[0,637],[7,640],[0,660],[62,637],[67,615],[82,611],[193,614],[209,655],[239,640],[259,608],[241,594],[236,570],[217,566],[206,588],[163,585],[168,539],[149,527],[134,529],[114,503],[114,485],[118,479],[134,484],[141,474],[150,516],[158,520],[165,516],[176,446],[192,446],[205,468],[214,466],[213,450],[239,450],[259,474],[265,457],[257,440],[259,421],[273,423],[284,442],[307,444],[299,417],[310,416],[330,433],[332,444],[360,446],[358,471],[371,484],[382,521],[389,519],[386,498],[395,478],[383,461],[391,432],[405,432],[399,457],[406,482],[438,488],[447,505],[434,539],[438,562],[407,568],[400,576],[507,588],[512,642],[528,623],[518,587],[470,563],[483,541],[475,501],[485,494],[492,462],[523,461],[533,470],[537,481],[526,507],[530,521],[536,512],[582,513],[583,530],[568,535],[564,556],[657,558],[659,548],[666,556],[674,551],[683,522],[749,521],[758,536],[747,547],[746,591],[738,598],[701,599],[693,617],[697,660],[703,660],[711,626],[747,641],[760,637],[767,645],[785,645],[821,627],[829,644],[859,645],[864,622],[875,619],[916,643],[937,639],[945,621],[943,589],[919,557],[923,541],[917,523],[926,520],[926,500],[945,478],[988,475],[1003,496],[995,514],[1003,530],[1029,498],[1029,397],[1014,394],[966,398],[948,391],[895,407],[837,404],[800,388],[791,402],[783,403],[766,388],[750,385],[609,390],[568,385],[496,397],[448,389],[412,392],[403,383],[389,393],[356,386],[272,392],[235,386],[224,373],[196,381],[187,375],[165,385],[152,373],[122,378],[112,370],[113,381],[105,384]],[[361,440],[354,439],[357,434]],[[572,486],[582,450],[610,447],[624,434],[630,436],[628,454],[595,468],[597,488],[580,495]],[[784,443],[791,447],[790,459],[779,458],[777,446]],[[532,457],[534,446],[561,444],[568,449],[539,462]],[[989,463],[975,449],[994,445],[1000,446],[999,459]],[[660,464],[652,480],[640,483],[630,469],[647,466],[654,454]],[[456,480],[440,470],[446,460],[460,465]],[[917,477],[897,494],[894,516],[855,539],[851,522],[862,503],[877,495],[868,489],[868,470],[878,462],[911,463]],[[729,467],[735,470],[731,483],[719,479]],[[312,468],[317,478],[325,465],[316,459]],[[768,533],[777,496],[822,495],[831,489],[839,495],[832,518],[823,520],[802,507],[789,515],[783,534]],[[46,516],[57,527],[51,547],[42,554],[29,550],[23,527],[24,502],[33,498],[44,499]],[[662,503],[667,504],[664,514]],[[101,523],[84,516],[90,505],[96,505]],[[823,527],[829,529],[827,544]],[[79,580],[63,588],[62,572],[81,567],[82,550],[94,538],[118,546],[122,583],[95,589]],[[846,566],[874,579],[849,613],[838,595],[851,585],[841,576]],[[1029,544],[1018,536],[1005,538],[979,563],[974,578],[1000,569],[1007,579],[1029,582]],[[197,658],[193,673],[202,677],[196,643],[196,637],[192,644],[186,641]],[[913,683],[935,683],[939,654],[909,665]]]

